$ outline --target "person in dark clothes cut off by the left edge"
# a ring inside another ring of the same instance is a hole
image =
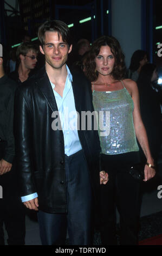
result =
[[[0,245],[4,245],[3,224],[8,233],[8,245],[24,245],[25,214],[17,191],[17,174],[14,163],[13,135],[14,93],[17,84],[3,70],[0,58]]]

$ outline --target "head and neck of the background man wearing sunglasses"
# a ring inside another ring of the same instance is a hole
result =
[[[9,77],[17,83],[22,84],[34,74],[37,63],[37,46],[31,42],[23,42],[17,47],[18,68],[9,74]]]

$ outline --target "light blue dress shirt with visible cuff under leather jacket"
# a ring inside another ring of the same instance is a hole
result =
[[[59,117],[61,120],[61,127],[64,137],[64,154],[70,156],[75,154],[79,150],[82,149],[81,143],[79,141],[79,136],[77,133],[77,112],[75,108],[74,102],[74,94],[72,81],[73,77],[70,73],[68,66],[67,68],[67,78],[66,83],[63,90],[63,96],[61,97],[59,93],[57,93],[54,88],[55,85],[50,81],[51,87],[53,88],[53,92],[55,95],[57,108],[59,111]],[[57,114],[57,113],[56,113]],[[53,126],[52,126],[53,127]],[[28,196],[22,197],[22,202],[29,201],[31,199],[36,198],[37,193],[30,194]]]

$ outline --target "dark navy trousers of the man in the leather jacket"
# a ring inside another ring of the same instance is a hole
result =
[[[42,245],[92,244],[92,189],[82,151],[65,157],[67,214],[38,212]]]

